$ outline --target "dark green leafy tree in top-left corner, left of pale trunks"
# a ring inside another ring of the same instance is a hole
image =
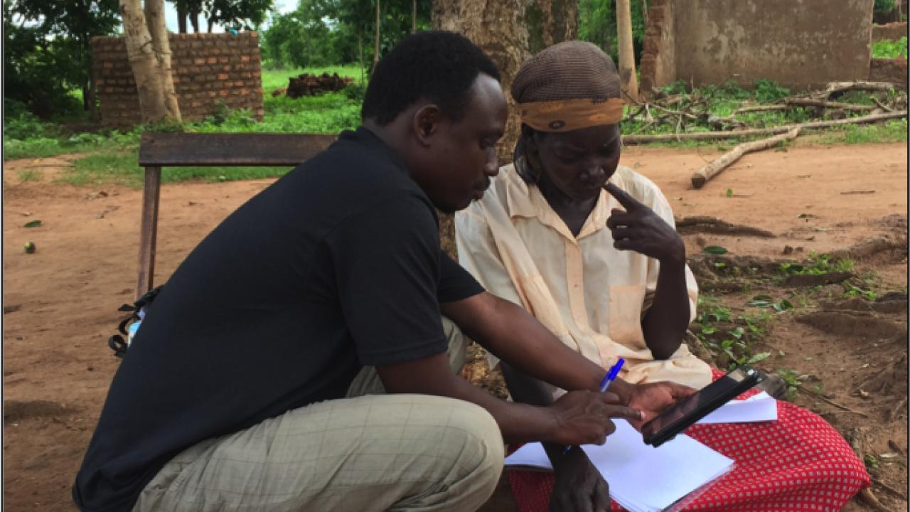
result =
[[[5,97],[46,117],[77,87],[97,118],[92,36],[114,33],[116,0],[5,0],[3,9]]]

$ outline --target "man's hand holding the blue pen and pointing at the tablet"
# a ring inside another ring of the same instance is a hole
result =
[[[550,406],[555,430],[550,439],[561,445],[602,445],[616,430],[610,418],[642,421],[642,411],[620,404],[612,393],[570,391]]]

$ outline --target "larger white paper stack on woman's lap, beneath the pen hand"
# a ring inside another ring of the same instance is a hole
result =
[[[610,496],[632,512],[657,512],[672,507],[693,491],[733,468],[733,460],[677,435],[654,448],[624,420],[613,420],[616,432],[603,445],[582,445],[591,463],[610,485]],[[540,443],[521,446],[506,457],[506,466],[551,469]]]

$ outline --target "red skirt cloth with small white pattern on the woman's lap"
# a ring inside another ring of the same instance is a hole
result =
[[[723,376],[712,372],[713,379]],[[837,511],[869,485],[863,462],[844,437],[818,415],[787,402],[777,403],[775,422],[693,425],[685,433],[736,461],[733,471],[685,510]],[[521,512],[549,508],[551,473],[511,470],[509,482]],[[612,511],[622,510],[612,502]]]

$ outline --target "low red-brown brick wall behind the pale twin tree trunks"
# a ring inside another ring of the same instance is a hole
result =
[[[171,34],[174,89],[184,120],[213,114],[224,102],[230,109],[249,108],[262,119],[262,77],[256,32]],[[121,37],[93,37],[95,79],[106,125],[141,122],[136,81]]]

